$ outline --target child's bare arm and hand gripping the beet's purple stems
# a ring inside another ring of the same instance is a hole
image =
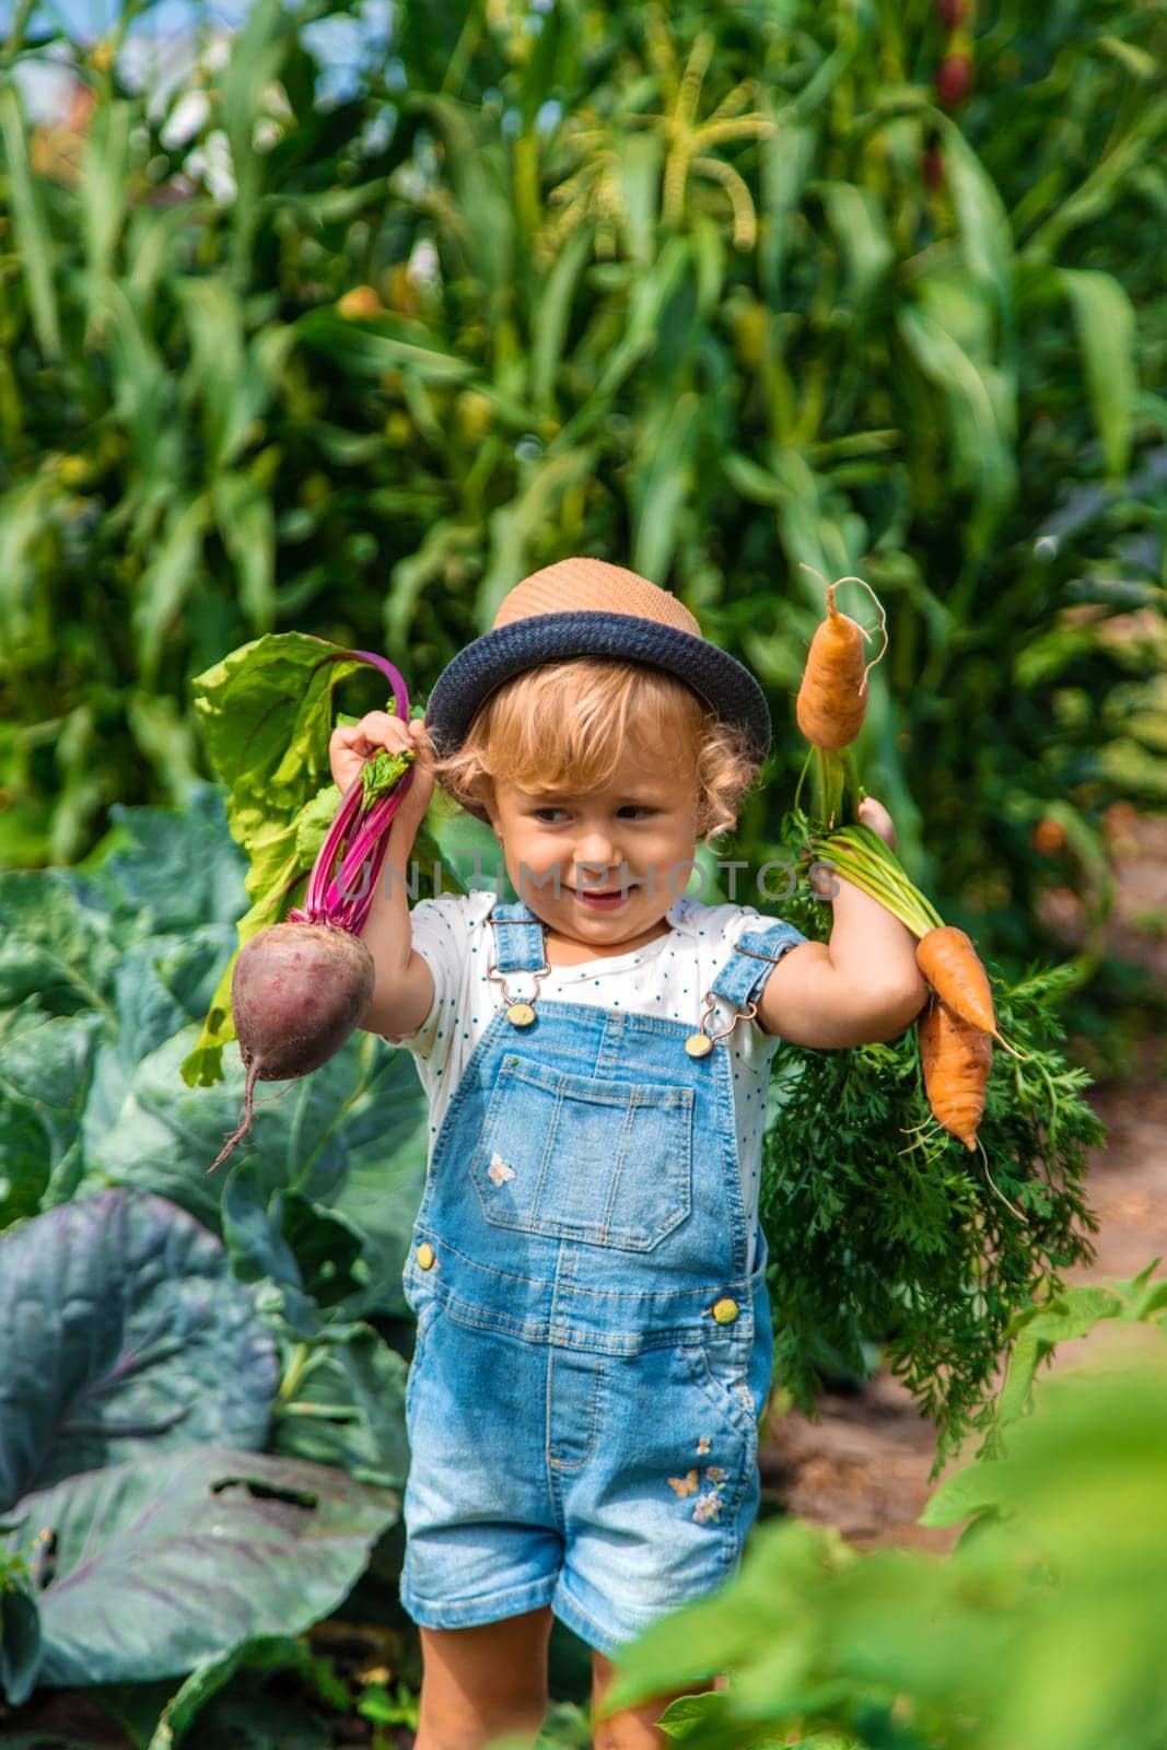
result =
[[[371,710],[352,728],[332,733],[329,763],[332,780],[343,794],[366,760],[381,747],[388,752],[413,747],[416,758],[409,794],[388,828],[385,863],[360,931],[360,940],[373,956],[374,971],[373,1001],[360,1026],[366,1032],[408,1040],[434,1006],[434,975],[422,956],[413,952],[406,892],[413,840],[434,793],[434,747],[420,718],[402,723],[387,710]]]

